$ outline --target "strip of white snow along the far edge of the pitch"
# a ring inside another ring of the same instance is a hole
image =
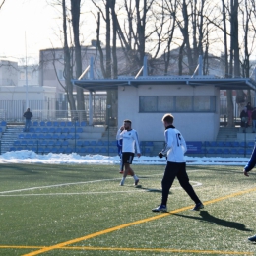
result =
[[[243,166],[248,162],[249,158],[222,158],[222,157],[188,157],[185,156],[187,165],[236,165]],[[115,164],[117,170],[119,169],[120,158],[116,156],[102,156],[102,155],[86,155],[80,156],[76,153],[72,154],[52,154],[37,155],[32,151],[16,151],[7,152],[0,155],[0,163],[40,163],[40,164]],[[165,165],[166,160],[156,157],[142,156],[135,157],[134,165],[140,164],[155,164]]]

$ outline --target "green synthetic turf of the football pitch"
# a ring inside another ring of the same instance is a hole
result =
[[[188,166],[205,209],[190,211],[194,203],[175,181],[169,213],[159,214],[151,209],[160,204],[164,166],[133,165],[137,188],[132,178],[119,186],[118,167],[1,164],[0,255],[256,254],[247,241],[256,234],[256,172]]]

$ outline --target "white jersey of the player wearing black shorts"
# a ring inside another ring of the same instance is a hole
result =
[[[118,130],[116,140],[123,139],[122,152],[133,152],[135,153],[135,147],[137,153],[141,153],[139,138],[136,130]]]

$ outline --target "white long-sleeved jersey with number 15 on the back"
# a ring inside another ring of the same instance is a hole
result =
[[[187,151],[186,142],[174,126],[166,127],[164,131],[165,147],[161,153],[167,156],[167,161],[172,162],[186,162],[184,154]]]

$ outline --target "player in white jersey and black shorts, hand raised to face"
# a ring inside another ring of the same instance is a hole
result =
[[[140,143],[137,132],[132,129],[132,122],[130,120],[124,120],[123,126],[117,131],[116,140],[123,140],[122,145],[122,162],[124,165],[123,178],[121,180],[120,186],[124,185],[125,178],[130,174],[134,178],[134,185],[137,186],[139,183],[139,178],[135,175],[130,164],[132,164],[135,148],[137,151],[137,156],[141,157]]]

